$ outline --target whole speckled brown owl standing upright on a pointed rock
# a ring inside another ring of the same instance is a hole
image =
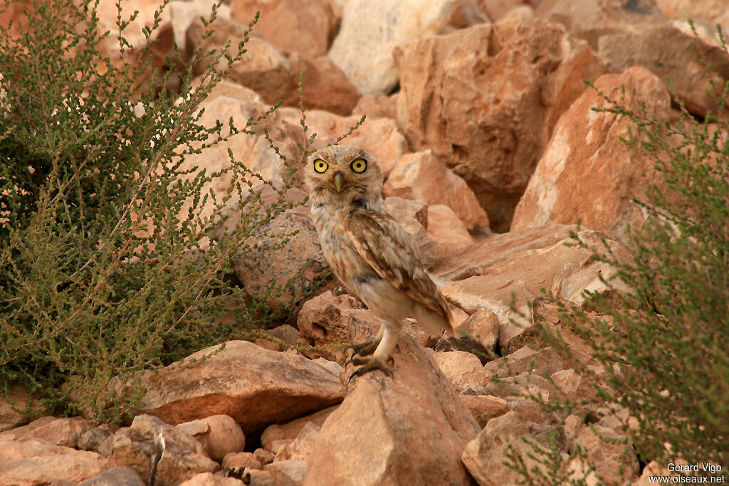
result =
[[[355,353],[373,355],[352,359],[364,364],[357,375],[389,372],[385,364],[407,317],[430,334],[453,334],[448,303],[426,273],[413,237],[385,211],[382,179],[375,158],[355,146],[321,149],[305,169],[324,257],[383,324],[374,342],[354,347]]]

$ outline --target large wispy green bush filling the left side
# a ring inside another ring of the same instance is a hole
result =
[[[176,68],[177,53],[162,73],[152,53],[166,2],[138,49],[124,37],[134,16],[120,12],[114,55],[100,51],[110,34],[97,31],[98,0],[4,3],[25,15],[0,28],[0,392],[21,383],[47,407],[120,420],[139,394],[114,396],[112,377],[128,382],[253,329],[265,302],[243,304],[226,278],[230,257],[291,207],[284,195],[313,136],[303,137],[300,159],[282,157],[282,185],[233,154],[222,172],[183,171],[187,155],[261,122],[200,124],[200,103],[244,42],[233,54],[230,45],[195,52],[187,68]],[[202,62],[210,67],[193,82],[192,66]],[[182,80],[176,92],[168,89],[174,77]],[[204,188],[224,175],[233,184],[216,200]],[[264,189],[277,195],[265,206]],[[209,238],[230,208],[241,214],[235,236]],[[238,317],[221,324],[230,301]]]

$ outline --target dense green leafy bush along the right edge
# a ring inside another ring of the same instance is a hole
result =
[[[634,200],[647,218],[627,228],[630,261],[607,243],[593,251],[616,270],[609,291],[585,292],[582,307],[551,299],[599,367],[575,367],[595,389],[591,403],[572,397],[542,405],[562,417],[582,414],[585,423],[599,420],[586,412],[596,405],[608,414],[627,411],[623,431],[639,459],[656,460],[664,471],[670,462],[729,465],[729,82],[714,90],[717,113],[698,119],[680,106],[678,121],[631,111],[599,93],[609,108],[596,111],[631,119],[634,133],[623,142],[654,162],[665,187],[648,189],[651,204]],[[549,326],[542,332],[569,359],[559,334]],[[564,470],[560,478],[527,471],[518,458],[512,463],[527,484],[584,481]],[[543,465],[553,470],[549,460]]]

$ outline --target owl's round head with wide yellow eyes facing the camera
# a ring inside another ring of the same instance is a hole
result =
[[[306,184],[315,197],[374,203],[382,197],[382,172],[375,157],[358,146],[332,145],[309,156]]]

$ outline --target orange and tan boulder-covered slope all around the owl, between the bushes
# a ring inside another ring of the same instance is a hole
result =
[[[116,19],[114,3],[101,2],[104,28]],[[140,28],[152,23],[158,3],[130,0],[124,8],[139,9]],[[596,435],[620,439],[622,426],[631,426],[625,411],[586,405],[596,418],[590,427],[526,397],[595,393],[574,371],[596,364],[590,348],[539,297],[545,289],[580,305],[583,289],[601,289],[598,275],[611,270],[590,250],[564,245],[573,224],[581,219],[591,248],[605,238],[628,258],[625,227],[647,217],[631,198],[660,184],[652,164],[618,139],[628,122],[592,111],[605,103],[582,81],[613,98],[623,86],[628,108],[644,102],[660,119],[676,118],[677,101],[705,115],[714,105],[698,52],[717,79],[729,78],[729,56],[711,27],[729,30],[726,2],[230,0],[216,34],[203,38],[195,19],[209,4],[171,1],[157,34],[158,63],[173,41],[185,52],[200,43],[221,47],[242,39],[254,12],[261,20],[248,55],[233,66],[237,82],[211,94],[203,122],[245,123],[282,99],[266,126],[281,152],[294,154],[300,72],[316,146],[366,114],[342,143],[377,157],[388,211],[415,236],[459,329],[473,339],[438,339],[408,326],[393,378],[373,372],[348,382],[342,343],[372,337],[377,324],[332,283],[295,320],[267,330],[270,340],[227,342],[148,372],[129,427],[80,417],[28,423],[1,402],[0,484],[143,485],[154,476],[155,485],[187,486],[509,485],[519,478],[504,465],[508,448],[526,457],[522,439],[539,442],[562,420],[563,439],[587,455],[588,463],[569,464],[575,474],[634,485],[647,484],[649,471],[668,474],[639,463],[631,444]],[[700,42],[687,34],[689,17]],[[217,170],[228,149],[254,172],[281,179],[262,136],[234,137],[187,163]],[[214,190],[226,184],[216,181]],[[309,259],[297,284],[327,271],[307,207],[273,224],[299,234],[285,248],[236,263],[251,293],[296,275]],[[535,323],[559,329],[574,361],[532,332]],[[310,346],[297,353],[292,345]],[[23,400],[27,392],[12,393]]]

